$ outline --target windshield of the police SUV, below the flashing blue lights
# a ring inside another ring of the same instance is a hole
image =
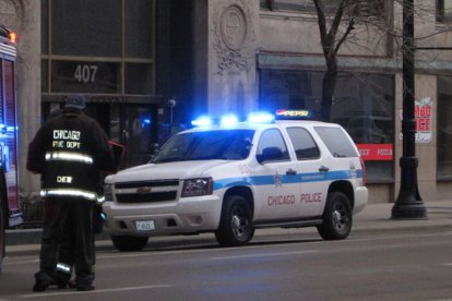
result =
[[[163,146],[153,162],[246,159],[250,153],[253,135],[253,130],[177,134]]]

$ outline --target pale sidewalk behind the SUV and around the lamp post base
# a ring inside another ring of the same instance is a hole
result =
[[[359,214],[354,216],[352,232],[358,231],[389,231],[389,230],[416,230],[436,228],[438,230],[452,230],[452,201],[425,202],[427,219],[391,219],[393,203],[369,204]],[[290,229],[260,229],[255,236],[286,233]],[[40,243],[40,229],[7,230],[7,253],[21,250],[38,249]],[[201,237],[201,236],[200,236]],[[187,237],[170,237],[171,240]],[[189,237],[197,238],[197,237]],[[168,237],[156,238],[168,240]],[[108,236],[102,233],[96,237],[96,245],[111,244]]]

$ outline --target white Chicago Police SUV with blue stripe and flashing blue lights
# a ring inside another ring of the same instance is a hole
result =
[[[152,236],[202,232],[224,246],[243,245],[267,227],[316,226],[323,239],[347,238],[368,190],[341,125],[270,115],[193,124],[150,164],[106,178],[105,226],[118,250],[142,250]]]

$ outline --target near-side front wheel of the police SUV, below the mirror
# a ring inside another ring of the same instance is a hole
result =
[[[240,195],[226,197],[215,238],[222,246],[247,244],[254,234],[252,213],[247,200]]]

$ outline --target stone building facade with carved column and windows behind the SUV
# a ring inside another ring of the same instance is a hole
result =
[[[88,2],[90,4],[86,4]],[[329,2],[329,1],[326,1]],[[333,1],[334,2],[334,1]],[[366,159],[370,202],[393,202],[402,155],[401,1],[356,1],[338,56],[332,121]],[[448,0],[415,1],[416,113],[423,200],[452,189],[452,20]],[[109,17],[111,16],[111,17]],[[19,34],[20,192],[38,190],[27,144],[61,97],[129,149],[126,166],[200,113],[319,111],[324,59],[311,0],[0,0]],[[176,106],[168,106],[168,100]]]

